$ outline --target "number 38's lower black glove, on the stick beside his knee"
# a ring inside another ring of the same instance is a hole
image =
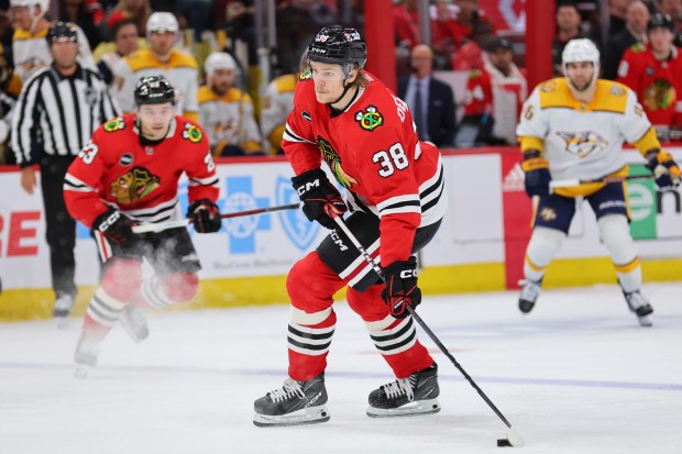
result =
[[[386,288],[382,298],[388,304],[388,311],[396,319],[409,315],[406,304],[416,309],[421,302],[421,290],[417,287],[417,259],[394,262],[384,268]]]

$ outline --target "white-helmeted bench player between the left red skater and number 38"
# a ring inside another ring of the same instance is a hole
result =
[[[235,88],[239,67],[224,52],[204,64],[206,85],[199,88],[199,123],[206,130],[213,156],[262,155],[261,132],[249,93]]]

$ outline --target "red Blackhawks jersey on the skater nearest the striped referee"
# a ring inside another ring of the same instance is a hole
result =
[[[69,213],[87,226],[113,207],[141,223],[179,219],[178,179],[187,174],[188,198],[218,199],[218,177],[208,139],[183,117],[170,121],[166,137],[140,143],[135,114],[108,121],[95,131],[64,179]]]

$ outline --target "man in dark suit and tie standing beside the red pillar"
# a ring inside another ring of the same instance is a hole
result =
[[[413,48],[408,62],[411,75],[398,79],[398,96],[413,112],[419,140],[436,146],[454,142],[454,95],[449,85],[435,79],[433,52],[426,44]]]

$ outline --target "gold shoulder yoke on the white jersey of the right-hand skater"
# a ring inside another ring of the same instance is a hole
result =
[[[540,86],[541,109],[573,109],[580,112],[625,113],[628,88],[612,80],[597,80],[594,99],[588,104],[576,100],[564,77],[557,77]]]

